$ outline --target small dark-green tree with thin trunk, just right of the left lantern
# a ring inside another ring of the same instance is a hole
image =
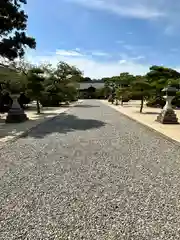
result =
[[[44,72],[40,68],[32,68],[27,74],[27,88],[30,97],[36,101],[37,113],[40,114],[40,99],[44,91]]]

